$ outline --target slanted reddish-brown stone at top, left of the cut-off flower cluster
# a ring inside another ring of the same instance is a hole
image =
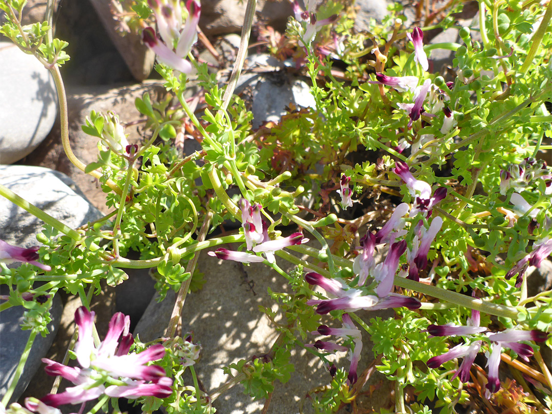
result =
[[[110,0],[90,0],[104,25],[109,38],[123,57],[132,76],[137,81],[144,81],[150,75],[155,62],[155,53],[144,45],[141,36],[136,33],[125,33],[122,36],[115,29],[118,22],[113,19]]]

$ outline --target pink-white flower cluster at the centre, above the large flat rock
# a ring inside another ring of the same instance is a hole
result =
[[[264,253],[269,263],[274,263],[274,252],[284,247],[300,245],[309,241],[302,233],[295,232],[288,237],[270,240],[268,237],[268,223],[261,217],[261,204],[251,205],[245,198],[240,200],[242,214],[242,229],[245,236],[247,250],[254,253]],[[226,248],[218,248],[208,253],[210,256],[222,260],[233,260],[242,263],[262,262],[264,258],[247,252],[235,252]]]

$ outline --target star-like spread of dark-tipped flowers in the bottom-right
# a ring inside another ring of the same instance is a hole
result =
[[[477,353],[481,350],[482,342],[485,340],[490,343],[490,353],[487,353],[487,367],[489,367],[489,382],[486,385],[489,392],[497,392],[500,389],[500,380],[498,379],[498,365],[500,364],[500,355],[502,348],[509,348],[516,352],[519,357],[524,360],[529,360],[528,357],[533,355],[533,348],[526,343],[520,341],[535,341],[544,342],[548,339],[548,335],[537,330],[522,331],[510,329],[497,333],[481,334],[487,330],[485,327],[479,326],[480,316],[479,311],[471,311],[471,317],[468,320],[468,326],[457,325],[429,325],[427,331],[433,336],[463,336],[467,337],[469,342],[459,344],[450,351],[445,352],[437,357],[429,358],[427,366],[429,368],[438,368],[440,365],[454,358],[464,358],[459,369],[454,374],[453,379],[457,376],[463,383],[470,379],[470,368],[473,364]]]

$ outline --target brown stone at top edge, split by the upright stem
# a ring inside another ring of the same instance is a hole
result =
[[[247,1],[203,0],[199,27],[206,35],[241,33]],[[288,17],[292,15],[288,1],[257,0],[256,17],[260,16],[277,30],[285,30]]]

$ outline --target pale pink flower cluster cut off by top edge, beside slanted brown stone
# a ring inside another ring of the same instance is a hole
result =
[[[201,4],[198,0],[188,0],[188,17],[182,29],[180,0],[148,0],[147,3],[155,14],[157,28],[164,44],[150,27],[142,32],[142,40],[155,52],[158,61],[179,72],[191,73],[192,63],[185,58],[198,39]]]

